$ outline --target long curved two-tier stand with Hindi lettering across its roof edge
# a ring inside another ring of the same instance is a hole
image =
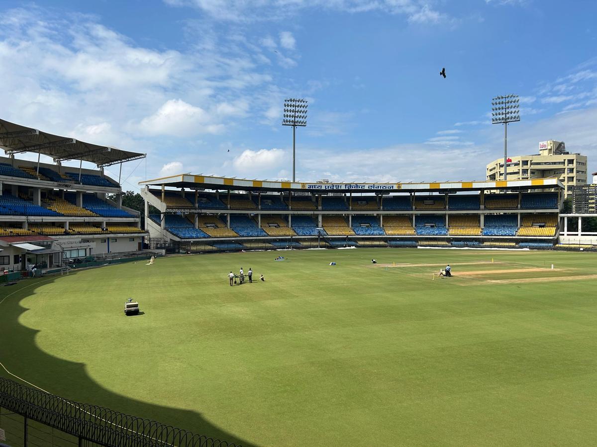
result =
[[[316,246],[547,248],[558,238],[564,200],[556,178],[359,184],[181,174],[140,185],[150,238],[191,252]]]

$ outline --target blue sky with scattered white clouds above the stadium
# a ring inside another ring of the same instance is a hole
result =
[[[287,179],[282,103],[304,97],[298,180],[458,181],[503,153],[488,113],[515,93],[510,154],[559,139],[597,170],[594,17],[589,0],[0,0],[2,117],[146,152],[127,189]]]

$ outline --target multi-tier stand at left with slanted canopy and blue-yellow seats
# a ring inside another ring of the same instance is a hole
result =
[[[51,135],[0,120],[0,271],[51,270],[74,260],[138,252],[147,232],[122,206],[122,189],[104,167],[144,154]],[[38,161],[21,160],[32,152]],[[39,156],[56,164],[40,163]],[[63,166],[78,160],[79,167]],[[98,169],[83,169],[82,162]],[[113,200],[110,200],[112,197]]]

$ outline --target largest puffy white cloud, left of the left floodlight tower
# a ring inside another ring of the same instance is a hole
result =
[[[141,120],[141,131],[151,135],[190,136],[219,134],[224,126],[210,122],[211,116],[201,107],[183,100],[169,100],[152,115]]]

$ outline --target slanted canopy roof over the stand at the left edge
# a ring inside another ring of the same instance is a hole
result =
[[[54,162],[83,160],[97,167],[143,159],[146,154],[123,151],[115,147],[86,143],[75,138],[47,134],[0,119],[0,147],[7,155],[22,152],[52,157]]]

